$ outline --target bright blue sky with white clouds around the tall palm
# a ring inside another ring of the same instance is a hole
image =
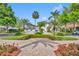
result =
[[[48,17],[51,15],[51,11],[58,10],[60,13],[63,11],[63,6],[68,7],[69,3],[10,3],[9,4],[15,16],[19,18],[28,18],[29,21],[34,24],[34,19],[32,18],[33,11],[39,12],[39,19],[37,22],[40,21],[47,21]]]

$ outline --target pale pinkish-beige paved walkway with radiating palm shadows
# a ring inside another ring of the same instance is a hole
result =
[[[0,44],[15,43],[19,46],[22,52],[19,56],[54,56],[54,49],[58,44],[77,43],[76,41],[52,41],[47,38],[31,38],[29,40],[0,40]]]

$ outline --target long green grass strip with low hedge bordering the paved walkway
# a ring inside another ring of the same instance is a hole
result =
[[[4,36],[0,37],[0,39],[4,40],[27,40],[29,38],[49,38],[51,40],[58,40],[58,41],[68,41],[68,40],[78,40],[78,37],[69,37],[69,36],[53,36],[47,34],[27,34],[27,35],[19,35],[19,36]]]

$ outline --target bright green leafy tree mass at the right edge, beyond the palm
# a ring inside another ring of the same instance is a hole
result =
[[[75,23],[77,23],[78,19],[79,19],[79,4],[77,3],[72,3],[70,4],[69,7],[64,8],[64,11],[62,12],[62,14],[59,17],[59,22],[62,25],[65,25],[67,23],[73,23],[74,28],[75,29]]]

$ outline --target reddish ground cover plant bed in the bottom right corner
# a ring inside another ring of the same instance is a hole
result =
[[[60,44],[54,51],[57,56],[79,56],[79,45],[70,44]]]

